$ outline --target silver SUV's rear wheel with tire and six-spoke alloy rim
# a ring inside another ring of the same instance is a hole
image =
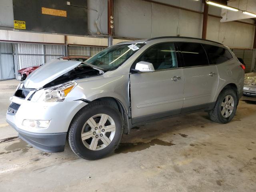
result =
[[[226,124],[234,118],[237,104],[236,91],[226,88],[220,92],[214,108],[208,112],[208,115],[212,121]]]

